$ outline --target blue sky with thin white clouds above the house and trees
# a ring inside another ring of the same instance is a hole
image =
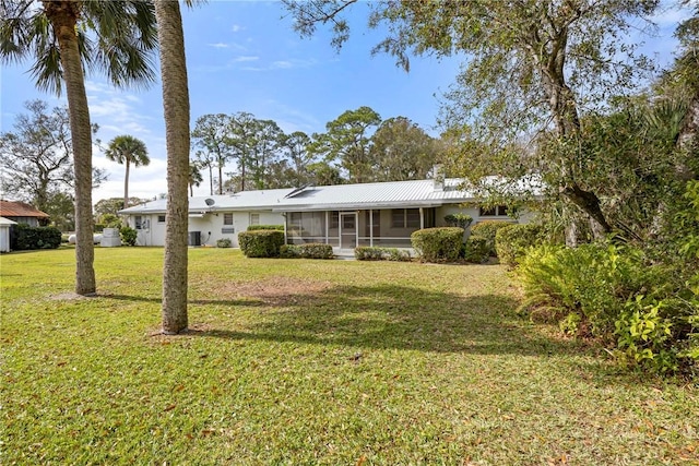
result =
[[[351,19],[352,35],[340,53],[330,34],[319,28],[300,38],[283,5],[261,1],[210,1],[183,10],[189,69],[191,122],[205,113],[247,111],[276,121],[285,132],[324,131],[328,121],[360,106],[374,108],[383,119],[403,116],[433,135],[439,95],[458,71],[457,59],[414,58],[411,72],[396,68],[388,56],[370,56],[383,35],[366,28],[366,5]],[[685,13],[667,10],[656,17],[659,37],[645,38],[647,52],[664,62],[672,58],[674,27]],[[3,65],[0,74],[0,131],[11,131],[23,103],[42,98],[64,103],[34,87],[26,74],[29,63]],[[159,83],[150,89],[115,89],[100,75],[86,83],[92,121],[100,127],[104,143],[119,134],[143,140],[151,165],[131,171],[130,195],[153,198],[166,191],[165,130]],[[93,193],[94,202],[123,195],[123,167],[95,151],[94,165],[109,179]],[[233,168],[233,167],[232,167]],[[208,182],[196,190],[206,194]],[[9,198],[9,194],[5,193]]]

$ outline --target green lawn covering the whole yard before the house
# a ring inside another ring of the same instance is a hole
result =
[[[190,251],[188,335],[155,335],[163,251],[0,259],[12,464],[699,464],[696,386],[513,313],[499,266]]]

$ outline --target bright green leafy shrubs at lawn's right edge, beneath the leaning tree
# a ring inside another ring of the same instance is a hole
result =
[[[639,249],[542,246],[518,274],[532,315],[559,320],[569,334],[615,347],[626,365],[656,372],[696,370],[699,299],[680,270],[650,264]]]

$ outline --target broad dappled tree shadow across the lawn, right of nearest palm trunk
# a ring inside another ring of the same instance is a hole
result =
[[[577,342],[536,335],[514,314],[517,300],[503,295],[461,296],[390,284],[335,286],[277,297],[273,306],[264,319],[247,325],[250,331],[194,326],[190,334],[477,355],[573,355],[581,349]]]

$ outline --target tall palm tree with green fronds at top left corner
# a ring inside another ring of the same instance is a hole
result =
[[[34,59],[36,85],[66,85],[75,171],[75,292],[96,291],[92,218],[92,127],[84,70],[105,71],[112,84],[153,81],[157,47],[150,2],[0,0],[0,59]]]

